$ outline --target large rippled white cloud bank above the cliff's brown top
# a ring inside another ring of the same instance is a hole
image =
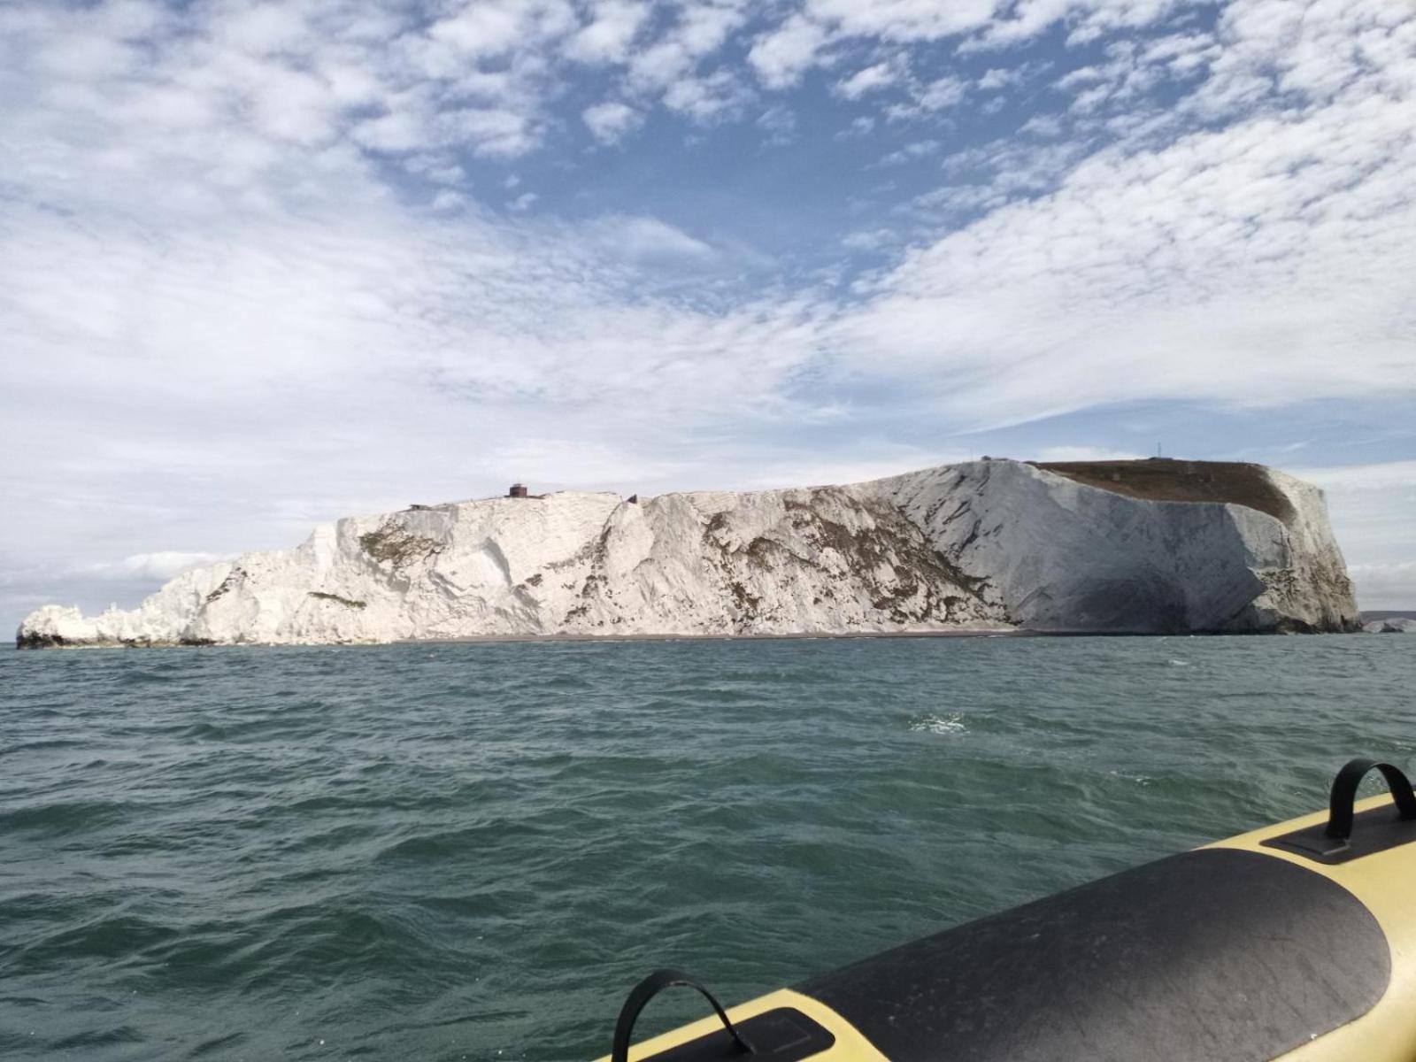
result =
[[[1029,197],[872,279],[841,321],[843,365],[878,375],[888,348],[886,372],[916,394],[933,381],[952,416],[978,425],[1147,398],[1262,408],[1416,389],[1413,79],[1395,59],[1416,52],[1416,16],[1388,31],[1405,41],[1382,45],[1392,65],[1330,44],[1378,8],[1310,11],[1287,47],[1321,42],[1313,64],[1344,75],[1294,74],[1293,92],[1318,86],[1306,102],[1250,103],[1219,127],[1080,161],[1075,142],[1038,149],[1062,152],[1038,173],[1020,156],[991,187]],[[1273,61],[1236,33],[1229,47]],[[1216,69],[1188,106],[1232,98],[1242,71]]]

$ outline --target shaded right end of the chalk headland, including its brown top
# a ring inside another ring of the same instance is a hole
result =
[[[987,600],[1031,630],[1357,629],[1317,487],[1256,464],[1075,467],[990,460],[882,486],[944,556],[986,575]],[[1188,500],[1223,480],[1246,504]]]

